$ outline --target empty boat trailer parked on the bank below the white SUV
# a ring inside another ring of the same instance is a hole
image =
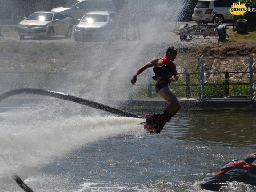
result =
[[[226,39],[227,36],[227,25],[208,25],[208,24],[197,24],[189,26],[188,24],[181,25],[179,31],[174,31],[176,35],[180,36],[181,41],[186,41],[187,37],[191,39],[192,36],[213,36],[219,37],[220,40]]]

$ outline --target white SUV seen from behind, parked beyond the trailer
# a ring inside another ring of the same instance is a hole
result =
[[[199,0],[192,15],[193,21],[214,22],[212,13],[216,11],[217,16],[222,20],[233,20],[233,15],[229,12],[233,0]]]

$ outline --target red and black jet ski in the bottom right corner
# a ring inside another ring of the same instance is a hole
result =
[[[208,181],[200,184],[202,189],[219,191],[220,187],[237,181],[256,186],[256,166],[252,163],[256,153],[252,153],[244,160],[233,159],[220,167],[220,171]]]

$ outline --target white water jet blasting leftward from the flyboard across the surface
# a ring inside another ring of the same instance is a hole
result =
[[[46,164],[87,143],[141,129],[141,119],[114,116],[56,118],[26,123],[2,121],[0,175]]]

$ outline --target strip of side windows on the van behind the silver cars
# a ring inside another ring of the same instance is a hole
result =
[[[112,3],[111,1],[105,1],[105,0],[88,0],[81,3],[78,3],[76,7],[79,7],[79,9],[105,9],[105,10],[111,10]]]

